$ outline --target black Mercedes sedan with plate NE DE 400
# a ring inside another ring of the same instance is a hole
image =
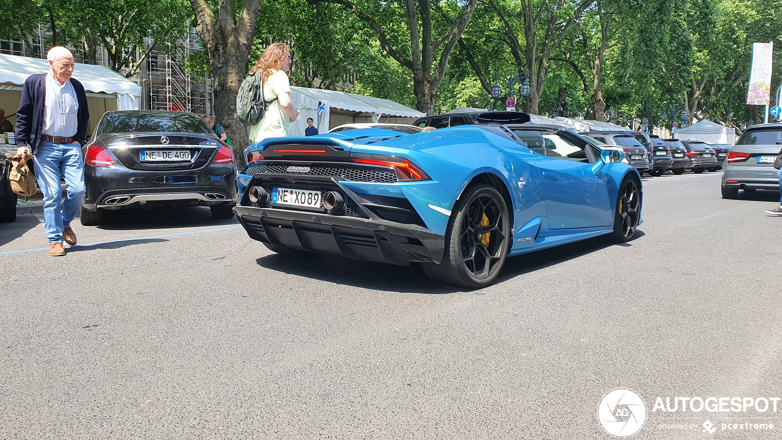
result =
[[[234,215],[234,153],[194,113],[107,112],[83,152],[85,226],[114,209],[209,206],[216,219]]]

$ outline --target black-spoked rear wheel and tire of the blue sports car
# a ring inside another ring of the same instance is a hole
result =
[[[497,280],[511,240],[508,206],[491,184],[471,184],[448,220],[443,259],[421,263],[432,280],[483,288]]]

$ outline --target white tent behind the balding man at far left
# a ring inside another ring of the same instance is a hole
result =
[[[5,109],[5,117],[16,122],[24,81],[30,75],[48,70],[45,59],[0,54],[0,108]],[[84,85],[87,92],[90,112],[88,133],[103,113],[136,110],[141,102],[141,86],[104,66],[76,63],[74,78]]]

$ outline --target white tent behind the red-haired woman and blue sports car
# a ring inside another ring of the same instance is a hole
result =
[[[390,99],[320,88],[292,86],[291,101],[301,112],[296,122],[291,124],[291,136],[304,135],[307,118],[312,118],[317,131],[323,134],[343,123],[413,123],[415,118],[426,114]],[[319,107],[322,109],[320,115],[317,114]]]

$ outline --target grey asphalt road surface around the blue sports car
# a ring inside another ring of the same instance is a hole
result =
[[[782,402],[653,410],[782,397],[779,193],[686,173],[644,195],[630,243],[511,258],[474,291],[278,256],[203,208],[76,221],[64,258],[0,255],[0,438],[611,438],[613,388],[643,399],[633,438],[782,438]],[[46,246],[20,213],[0,252]]]

